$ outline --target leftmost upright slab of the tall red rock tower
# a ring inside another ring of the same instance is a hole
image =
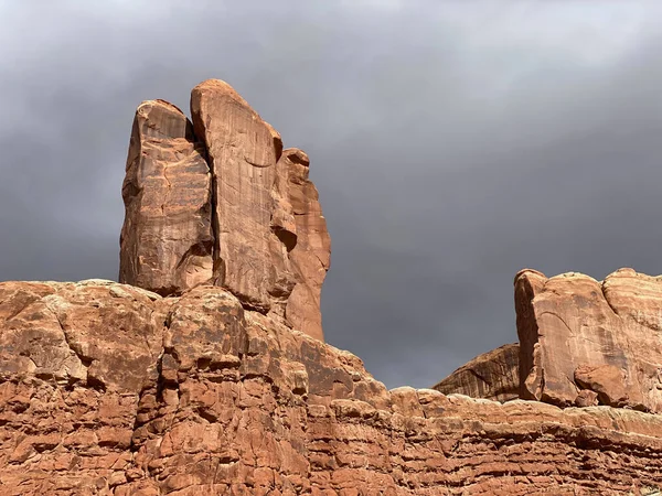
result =
[[[210,185],[186,117],[163,100],[142,103],[122,186],[120,282],[167,295],[211,280]]]

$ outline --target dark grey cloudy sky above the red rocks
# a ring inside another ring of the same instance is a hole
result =
[[[303,149],[327,341],[389,388],[516,342],[513,277],[662,272],[655,1],[0,0],[0,280],[117,279],[136,107]]]

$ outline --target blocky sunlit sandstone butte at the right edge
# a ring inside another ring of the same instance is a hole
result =
[[[591,390],[600,405],[662,413],[662,279],[524,270],[515,305],[524,398],[569,406]]]

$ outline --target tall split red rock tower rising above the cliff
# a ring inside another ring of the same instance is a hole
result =
[[[331,240],[308,155],[227,83],[191,93],[192,125],[162,100],[138,107],[122,196],[120,282],[163,295],[226,288],[244,306],[323,339]]]

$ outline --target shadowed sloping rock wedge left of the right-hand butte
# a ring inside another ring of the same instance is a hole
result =
[[[477,356],[433,389],[494,401],[520,398],[520,345],[503,345]]]

